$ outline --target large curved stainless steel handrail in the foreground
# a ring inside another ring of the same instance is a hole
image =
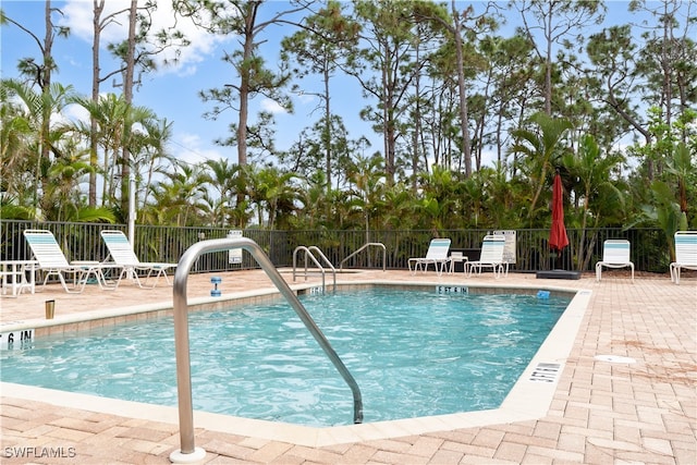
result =
[[[200,255],[212,252],[225,252],[232,248],[242,248],[252,254],[277,289],[286,301],[289,301],[305,327],[351,388],[353,393],[354,424],[363,423],[363,397],[358,383],[261,247],[248,237],[225,237],[200,241],[188,247],[180,258],[176,272],[174,273],[172,291],[181,440],[181,449],[170,454],[170,461],[174,463],[203,460],[206,455],[203,449],[196,448],[194,440],[194,407],[192,403],[191,354],[188,344],[188,304],[186,299],[188,273]]]

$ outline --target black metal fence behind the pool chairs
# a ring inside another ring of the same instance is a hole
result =
[[[103,260],[107,248],[100,237],[102,230],[120,230],[123,224],[34,222],[3,220],[0,223],[0,255],[2,260],[29,259],[30,250],[23,237],[27,229],[49,230],[54,235],[69,260]],[[228,236],[223,228],[135,227],[135,253],[140,261],[178,262],[182,254],[194,243],[206,238]],[[369,247],[357,254],[343,267],[404,269],[409,257],[424,257],[431,238],[450,237],[452,248],[477,249],[490,230],[432,231],[262,231],[248,229],[245,237],[255,241],[277,267],[293,265],[293,253],[298,246],[317,246],[335,266],[366,243],[377,242],[387,248],[387,264],[379,247]],[[671,261],[670,245],[659,229],[598,229],[567,230],[570,246],[561,256],[549,249],[549,230],[515,231],[515,264],[510,269],[534,272],[561,268],[590,271],[602,257],[602,243],[607,238],[626,238],[632,243],[632,260],[637,271],[668,272]],[[586,253],[580,256],[579,252]],[[229,253],[207,254],[199,258],[194,272],[227,271],[257,268],[248,254],[242,264],[232,264]]]

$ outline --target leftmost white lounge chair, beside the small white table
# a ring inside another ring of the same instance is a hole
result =
[[[107,284],[103,271],[106,269],[119,268],[115,265],[102,265],[99,261],[71,261],[69,262],[61,250],[60,245],[56,241],[53,233],[47,230],[25,230],[24,238],[26,240],[34,259],[38,261],[36,271],[46,273],[44,286],[51,276],[58,277],[65,292],[71,294],[80,294],[85,290],[85,285],[89,282],[89,277],[94,277],[100,289],[117,289],[115,285]],[[73,285],[68,286],[65,277],[72,276]]]

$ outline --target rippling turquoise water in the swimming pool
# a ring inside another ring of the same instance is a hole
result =
[[[372,289],[301,301],[356,378],[365,421],[497,408],[570,299]],[[194,408],[308,426],[351,390],[284,302],[189,316]],[[171,318],[2,351],[2,381],[176,406]]]

